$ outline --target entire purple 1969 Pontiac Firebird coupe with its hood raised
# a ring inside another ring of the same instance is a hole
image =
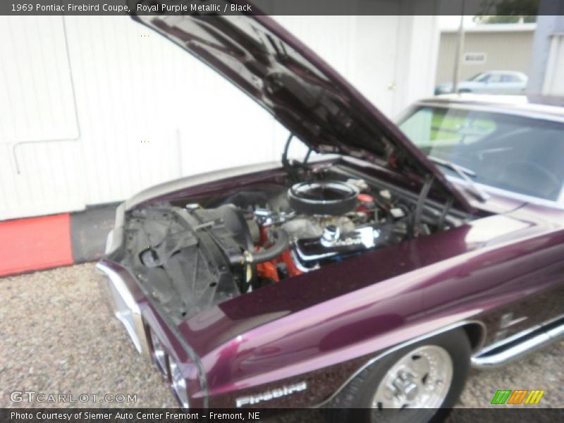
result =
[[[287,145],[280,164],[118,207],[97,268],[182,407],[407,407],[427,421],[470,366],[562,335],[562,109],[435,97],[400,130],[270,18],[136,19],[317,153],[290,160]]]

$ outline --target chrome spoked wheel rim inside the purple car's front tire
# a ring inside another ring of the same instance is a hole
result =
[[[453,380],[453,360],[438,345],[424,345],[400,358],[381,380],[372,408],[437,408]]]

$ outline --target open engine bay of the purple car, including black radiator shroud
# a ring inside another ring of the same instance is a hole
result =
[[[123,264],[181,321],[238,295],[457,226],[363,178],[315,176],[130,212]]]

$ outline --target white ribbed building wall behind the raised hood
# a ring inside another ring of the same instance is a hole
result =
[[[278,20],[388,116],[432,92],[433,16]],[[0,219],[280,157],[274,118],[130,18],[1,16],[0,37]]]

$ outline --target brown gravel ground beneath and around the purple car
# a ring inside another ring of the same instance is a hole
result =
[[[561,342],[502,369],[472,371],[458,407],[487,407],[503,388],[544,389],[539,405],[564,407],[563,353]],[[74,404],[81,407],[177,406],[109,316],[94,264],[0,279],[0,407],[50,405],[13,403],[10,393],[24,390],[137,394],[137,403]]]

